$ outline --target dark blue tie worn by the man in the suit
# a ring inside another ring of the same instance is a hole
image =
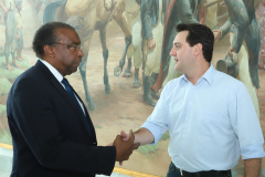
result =
[[[92,135],[88,119],[86,118],[86,115],[85,115],[85,113],[83,112],[83,110],[82,110],[82,107],[81,107],[81,105],[80,105],[80,103],[78,103],[78,101],[77,101],[77,98],[76,98],[76,96],[75,96],[75,94],[74,94],[74,91],[73,91],[72,86],[70,85],[68,81],[67,81],[65,77],[63,79],[62,83],[63,83],[63,85],[65,86],[65,90],[66,90],[66,92],[68,93],[68,95],[73,98],[73,101],[75,102],[75,104],[77,105],[77,107],[78,107],[78,108],[81,110],[81,112],[83,113],[83,115],[84,115],[84,116],[83,116],[83,119],[84,119],[84,122],[85,122],[86,129],[87,129],[87,132],[89,133],[89,135]]]

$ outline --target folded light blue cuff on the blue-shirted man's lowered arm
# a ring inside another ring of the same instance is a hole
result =
[[[241,148],[242,159],[265,157],[263,144],[247,145]]]

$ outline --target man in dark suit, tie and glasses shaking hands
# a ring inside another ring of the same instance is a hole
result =
[[[13,140],[11,176],[91,177],[110,175],[129,158],[134,135],[97,146],[95,129],[80,96],[64,79],[82,62],[81,40],[65,23],[41,27],[33,40],[40,60],[14,82],[7,103]]]

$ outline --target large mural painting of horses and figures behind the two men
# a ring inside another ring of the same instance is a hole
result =
[[[2,2],[2,3],[1,3]],[[178,23],[203,23],[215,35],[212,64],[244,82],[265,131],[265,1],[256,0],[0,0],[0,143],[12,144],[6,102],[19,74],[36,62],[35,30],[73,25],[85,55],[67,79],[87,103],[99,145],[136,131],[165,84],[180,75],[169,55]],[[239,14],[244,12],[244,15]],[[49,128],[49,127],[47,127]],[[166,176],[169,134],[134,152],[121,168]],[[119,167],[118,164],[116,164]],[[262,165],[265,176],[265,163]],[[243,176],[243,162],[233,176]]]

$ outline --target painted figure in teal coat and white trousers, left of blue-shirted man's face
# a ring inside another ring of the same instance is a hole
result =
[[[144,38],[144,102],[155,106],[153,97],[158,98],[155,92],[151,92],[160,66],[161,44],[163,25],[162,0],[141,0],[140,3],[142,38]]]

